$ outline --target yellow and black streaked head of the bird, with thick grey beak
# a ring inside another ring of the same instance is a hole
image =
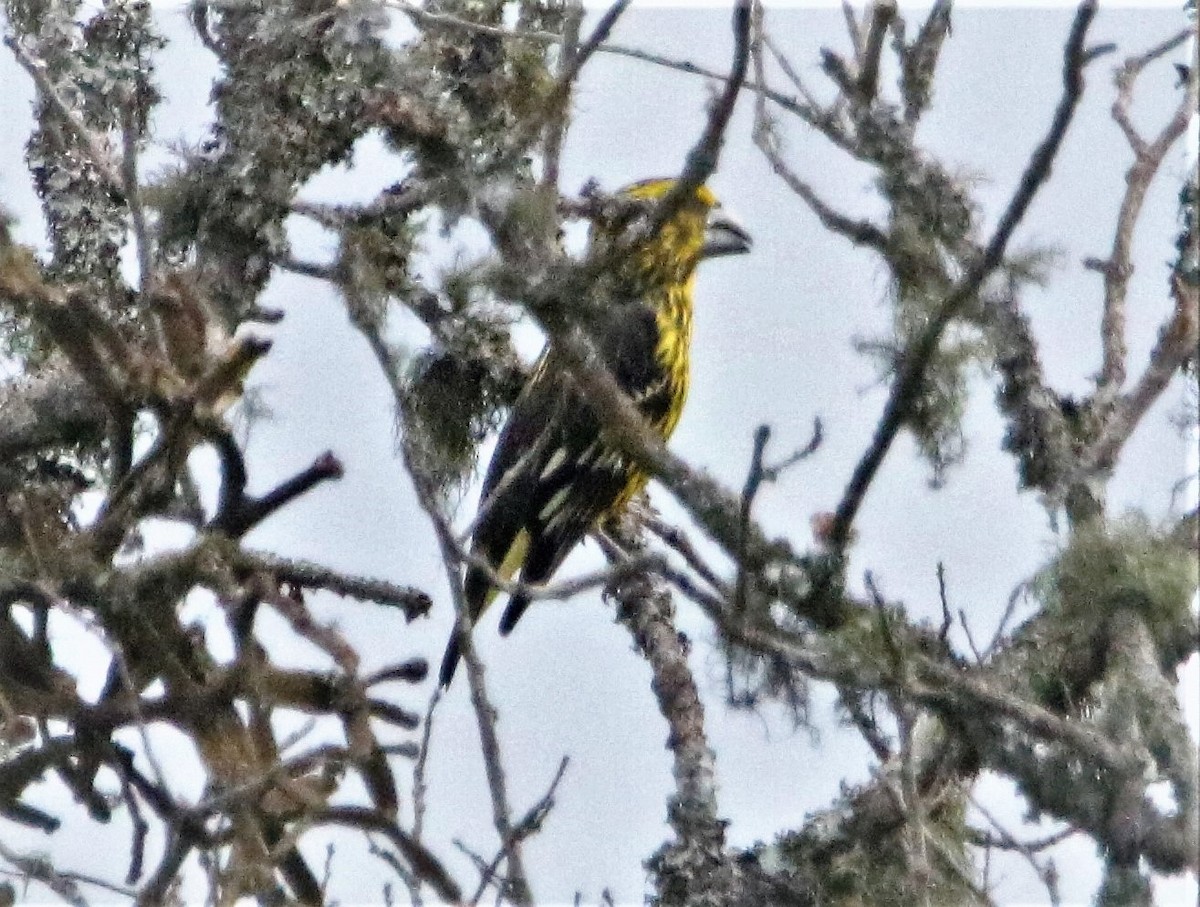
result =
[[[676,185],[673,179],[641,180],[614,193],[626,202],[653,203]],[[629,223],[628,216],[596,224],[593,239],[614,239]],[[665,280],[688,280],[702,258],[750,251],[750,234],[730,216],[708,186],[700,186],[683,200],[659,232],[635,251],[636,270]]]

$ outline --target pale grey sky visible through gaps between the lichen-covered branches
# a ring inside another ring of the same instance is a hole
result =
[[[968,10],[955,19],[920,140],[977,180],[977,198],[991,217],[1007,202],[1049,125],[1069,20],[1069,10],[1020,8]],[[1040,244],[1062,251],[1050,284],[1024,300],[1042,338],[1048,377],[1062,390],[1084,392],[1099,364],[1100,282],[1080,262],[1105,254],[1111,245],[1117,193],[1129,160],[1108,113],[1110,72],[1124,55],[1157,43],[1181,22],[1175,10],[1100,11],[1092,42],[1115,41],[1120,52],[1088,71],[1088,90],[1054,179],[1016,235],[1018,246]],[[204,134],[212,74],[181,13],[166,12],[163,28],[175,43],[160,61],[158,80],[168,98],[156,120],[160,161],[168,158],[166,145],[173,140]],[[823,85],[817,49],[846,47],[840,11],[770,12],[768,28],[814,86]],[[637,7],[619,23],[613,41],[724,70],[727,12]],[[1140,109],[1162,116],[1170,101],[1156,104],[1154,98],[1174,97],[1171,79],[1170,67],[1148,73],[1139,83]],[[0,198],[20,218],[19,235],[41,242],[36,200],[20,162],[31,90],[7,55],[0,56]],[[564,188],[577,191],[593,176],[612,188],[677,173],[700,132],[707,92],[704,80],[696,77],[599,55],[588,65],[576,96]],[[707,264],[700,272],[692,389],[672,448],[731,487],[740,487],[758,424],[773,427],[772,450],[778,456],[802,445],[812,418],[820,415],[826,442],[818,455],[763,488],[756,504],[769,530],[803,546],[809,516],[836,504],[882,407],[883,390],[875,384],[870,362],[853,352],[852,340],[886,329],[887,283],[881,265],[827,234],[770,174],[750,143],[750,113],[746,96],[712,185],[751,232],[755,250],[751,256]],[[869,174],[784,116],[780,126],[793,167],[839,208],[852,214],[876,210]],[[304,197],[368,198],[401,173],[373,138],[361,143],[354,164],[350,170],[322,174]],[[1152,188],[1142,217],[1135,248],[1139,270],[1129,298],[1134,374],[1170,306],[1164,292],[1166,262],[1183,172],[1180,151]],[[325,259],[334,251],[329,236],[302,227],[293,235],[301,257]],[[450,260],[445,248],[430,251],[431,262]],[[413,626],[404,626],[390,611],[335,599],[322,600],[319,612],[360,645],[365,669],[409,655],[436,662],[451,623],[450,602],[427,524],[394,455],[390,402],[373,360],[352,332],[338,300],[320,284],[280,276],[264,301],[282,306],[288,317],[272,329],[276,346],[252,373],[252,385],[272,412],[250,432],[252,491],[270,487],[325,449],[338,455],[347,475],[272,518],[250,542],[430,589],[433,614]],[[397,320],[396,326],[410,342],[420,341],[407,322]],[[992,382],[980,376],[973,389],[966,463],[950,474],[946,488],[932,492],[928,468],[912,457],[911,443],[898,444],[860,515],[851,575],[860,577],[870,567],[889,597],[932,619],[940,613],[935,567],[942,560],[953,603],[966,609],[976,636],[989,638],[1009,591],[1045,561],[1056,536],[1032,495],[1014,491],[1013,462],[998,450],[1003,425],[992,407]],[[1184,475],[1184,443],[1170,424],[1180,406],[1180,395],[1169,395],[1129,444],[1112,483],[1112,512],[1138,507],[1152,518],[1168,515],[1171,485]],[[679,512],[661,489],[654,499],[665,513]],[[469,497],[460,515],[463,521],[473,506]],[[563,575],[598,564],[589,546],[568,561]],[[641,861],[666,834],[665,726],[648,690],[648,668],[612,618],[611,608],[593,594],[565,605],[538,603],[508,639],[496,635],[491,615],[476,635],[502,714],[515,809],[523,811],[542,794],[563,755],[572,759],[554,812],[528,845],[530,878],[544,902],[570,901],[576,890],[595,900],[604,888],[618,902],[640,902]],[[857,734],[834,726],[826,692],[814,697],[816,734],[793,731],[772,708],[761,715],[728,714],[721,704],[720,661],[708,645],[707,623],[683,602],[680,623],[698,643],[692,662],[707,695],[721,809],[731,819],[732,843],[749,845],[797,828],[808,811],[836,795],[840,783],[865,780],[865,746]],[[268,644],[317,663],[312,651],[286,637],[280,627]],[[88,657],[98,653],[80,654],[82,661]],[[425,689],[432,689],[432,680]],[[396,696],[420,710],[424,692],[403,687]],[[451,837],[488,855],[494,849],[478,750],[466,684],[457,683],[436,720],[426,840],[463,878],[469,878],[469,867],[446,843]],[[186,755],[179,759],[180,770],[186,770]],[[408,767],[400,763],[397,770],[403,775]],[[985,788],[1002,793],[1000,785]],[[56,803],[56,795],[46,791],[46,803]],[[1019,806],[1000,811],[1014,821],[1020,817]],[[126,839],[107,828],[73,824],[56,836],[60,841],[34,840],[31,833],[14,828],[0,823],[0,835],[11,843],[54,848],[70,854],[64,863],[110,875],[116,875],[113,855],[124,855],[127,847]],[[98,834],[113,834],[110,849],[98,846]],[[319,864],[320,846],[307,852]],[[335,887],[347,902],[377,900],[373,879],[384,878],[382,865],[352,853],[361,848],[343,839],[334,864]],[[1068,901],[1086,901],[1098,881],[1092,847],[1069,842],[1064,853],[1063,894]],[[1021,865],[1006,863],[1002,872],[1001,901],[1043,900]],[[1194,903],[1194,882],[1164,887],[1160,902]]]

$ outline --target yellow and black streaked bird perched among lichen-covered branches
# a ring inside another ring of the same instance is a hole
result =
[[[644,180],[617,193],[662,198],[674,180]],[[593,250],[620,234],[623,222],[598,221]],[[634,246],[606,277],[611,299],[593,337],[605,365],[650,427],[670,438],[688,396],[692,287],[702,258],[750,250],[750,238],[706,186],[685,198],[661,228]],[[584,535],[617,515],[646,487],[647,475],[612,444],[600,418],[571,382],[553,344],[541,355],[500,433],[484,479],[472,552],[504,579],[544,583]],[[464,585],[470,623],[497,595],[487,571],[469,567]],[[529,605],[516,594],[500,617],[508,635]],[[456,630],[442,661],[442,685],[458,666]]]

